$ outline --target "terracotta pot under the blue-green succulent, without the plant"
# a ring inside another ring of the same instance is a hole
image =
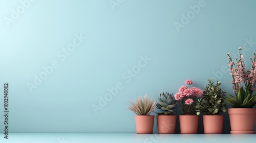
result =
[[[177,115],[157,115],[157,129],[159,134],[175,133]]]

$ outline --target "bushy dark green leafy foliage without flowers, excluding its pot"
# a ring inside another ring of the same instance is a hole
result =
[[[220,82],[217,81],[217,84],[214,85],[211,79],[208,79],[208,81],[209,83],[204,89],[203,97],[198,99],[197,102],[197,115],[200,112],[206,115],[220,115],[222,112],[226,112],[226,104],[224,104],[226,92],[221,90]]]

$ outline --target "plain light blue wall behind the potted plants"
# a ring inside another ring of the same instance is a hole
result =
[[[127,99],[176,93],[187,79],[202,89],[217,79],[232,93],[226,53],[245,46],[248,68],[255,52],[254,0],[20,2],[0,1],[0,93],[8,82],[10,132],[135,132]],[[2,115],[0,122],[2,131]]]

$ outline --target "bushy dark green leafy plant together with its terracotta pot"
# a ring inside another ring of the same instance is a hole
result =
[[[224,97],[226,92],[221,91],[221,83],[217,81],[211,82],[208,79],[208,86],[205,87],[203,97],[197,102],[197,115],[203,112],[204,133],[222,133],[224,116],[222,112],[226,112],[226,104],[224,104]]]

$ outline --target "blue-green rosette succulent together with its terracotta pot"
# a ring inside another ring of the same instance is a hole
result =
[[[176,118],[177,115],[174,115],[174,107],[177,105],[178,101],[174,99],[173,94],[164,92],[160,97],[157,97],[159,103],[157,103],[156,108],[159,109],[159,112],[156,112],[157,115],[157,128],[158,133],[168,134],[175,133],[176,127]]]

